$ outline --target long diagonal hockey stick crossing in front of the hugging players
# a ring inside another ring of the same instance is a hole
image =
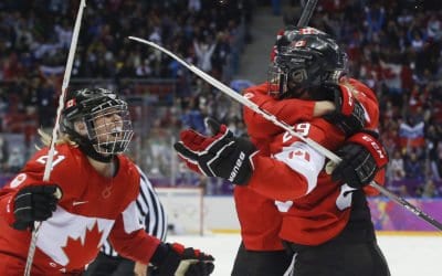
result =
[[[235,91],[233,91],[232,88],[230,88],[229,86],[227,86],[225,84],[221,83],[220,81],[218,81],[217,78],[210,76],[209,74],[207,74],[206,72],[201,71],[200,68],[198,68],[197,66],[194,66],[191,63],[187,63],[183,60],[181,60],[180,57],[178,57],[176,54],[173,54],[172,52],[159,46],[158,44],[144,40],[144,39],[139,39],[136,36],[129,36],[130,40],[134,41],[138,41],[143,44],[147,44],[149,46],[152,46],[159,51],[161,51],[162,53],[169,55],[170,57],[175,59],[177,62],[179,62],[180,64],[182,64],[185,67],[187,67],[188,70],[190,70],[191,72],[193,72],[196,75],[198,75],[199,77],[201,77],[202,79],[204,79],[206,82],[208,82],[209,84],[211,84],[212,86],[217,87],[218,89],[220,89],[222,93],[227,94],[228,96],[230,96],[231,98],[235,99],[236,102],[239,102],[240,104],[249,107],[250,109],[252,109],[253,112],[260,114],[261,116],[263,116],[265,119],[272,121],[274,125],[283,128],[284,130],[286,130],[290,135],[299,138],[301,140],[303,140],[304,142],[306,142],[308,146],[311,146],[312,148],[314,148],[316,151],[318,151],[319,153],[326,156],[328,159],[330,159],[333,162],[335,163],[339,163],[341,161],[341,159],[336,156],[334,152],[329,151],[328,149],[326,149],[325,147],[323,147],[322,145],[317,144],[315,140],[312,140],[308,137],[304,137],[302,135],[299,135],[298,132],[296,132],[294,130],[293,126],[287,125],[284,121],[278,120],[274,115],[267,113],[266,110],[261,109],[255,103],[251,102],[250,99],[241,96],[240,94],[238,94]],[[434,220],[433,217],[431,217],[430,215],[428,215],[427,213],[424,213],[422,210],[418,209],[417,206],[414,206],[413,204],[409,203],[407,200],[404,200],[403,198],[398,197],[397,194],[390,192],[389,190],[387,190],[386,188],[383,188],[382,185],[376,183],[375,181],[370,182],[370,185],[373,187],[376,190],[378,190],[380,193],[382,193],[383,195],[386,195],[387,198],[391,199],[392,201],[394,201],[396,203],[402,205],[403,208],[406,208],[407,210],[409,210],[410,212],[412,212],[413,214],[415,214],[417,216],[421,217],[422,220],[427,221],[428,223],[430,223],[431,225],[433,225],[434,227],[436,227],[438,230],[442,231],[442,223],[438,222],[436,220]]]

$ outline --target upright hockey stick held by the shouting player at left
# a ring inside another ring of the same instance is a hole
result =
[[[60,95],[59,106],[56,109],[55,126],[52,129],[51,146],[50,146],[49,153],[48,153],[48,160],[44,166],[43,181],[49,181],[49,179],[51,177],[52,161],[54,159],[54,153],[55,153],[55,141],[57,139],[57,132],[59,132],[59,128],[60,128],[60,126],[59,126],[60,117],[61,117],[61,113],[63,109],[64,96],[66,94],[66,89],[67,89],[70,78],[71,78],[72,65],[74,63],[76,44],[78,41],[80,26],[82,24],[83,9],[85,7],[86,7],[86,0],[81,0],[78,12],[76,14],[74,31],[72,33],[71,46],[70,46],[70,51],[67,54],[66,68],[64,71],[64,76],[63,76],[62,93]],[[54,197],[57,199],[61,199],[62,191],[60,189],[57,189],[55,191]],[[34,229],[32,230],[31,242],[30,242],[29,251],[28,251],[27,266],[24,268],[25,276],[29,276],[31,274],[32,262],[33,262],[34,255],[35,255],[36,237],[39,235],[39,229],[40,229],[41,224],[42,224],[42,222],[34,222]]]

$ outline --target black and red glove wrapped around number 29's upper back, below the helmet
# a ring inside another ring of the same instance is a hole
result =
[[[333,93],[333,100],[336,106],[336,112],[324,116],[324,118],[339,127],[347,137],[362,130],[366,125],[365,110],[351,91],[344,85],[330,84],[324,88]]]

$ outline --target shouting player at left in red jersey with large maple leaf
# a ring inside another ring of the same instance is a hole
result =
[[[140,176],[123,155],[133,136],[127,103],[103,88],[75,91],[62,116],[50,181],[42,181],[43,148],[0,190],[0,274],[23,274],[39,221],[31,275],[81,275],[106,238],[122,256],[150,263],[159,275],[178,269],[210,275],[212,256],[162,243],[137,220]],[[54,195],[57,190],[61,199]]]

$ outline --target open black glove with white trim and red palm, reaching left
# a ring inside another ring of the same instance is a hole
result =
[[[257,152],[255,146],[233,136],[225,125],[208,118],[213,136],[203,136],[191,129],[180,134],[175,149],[187,166],[203,176],[219,177],[235,184],[246,184],[253,173],[252,156]]]

